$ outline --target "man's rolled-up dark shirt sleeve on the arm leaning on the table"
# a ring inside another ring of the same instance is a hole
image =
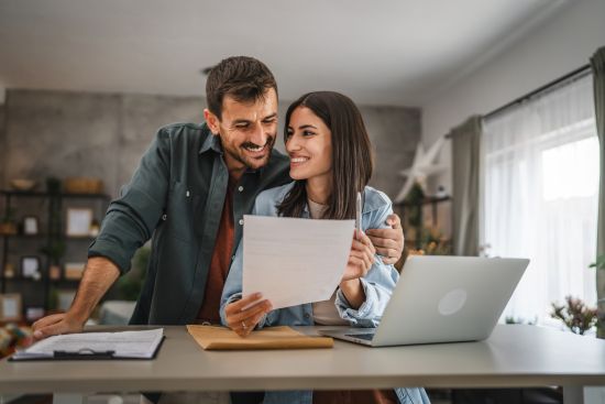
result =
[[[131,182],[108,208],[88,256],[105,256],[120,272],[130,270],[134,252],[153,234],[166,204],[170,170],[169,134],[161,129]]]

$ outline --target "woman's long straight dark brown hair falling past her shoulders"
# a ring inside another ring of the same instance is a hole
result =
[[[292,113],[298,107],[309,108],[332,132],[332,192],[323,219],[354,219],[358,192],[363,192],[374,167],[372,144],[355,103],[334,91],[309,92],[294,101],[286,112],[284,141],[288,139]],[[306,181],[294,187],[277,206],[277,214],[300,217],[307,205]]]

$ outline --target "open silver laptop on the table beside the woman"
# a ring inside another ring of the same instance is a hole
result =
[[[323,329],[371,347],[490,337],[529,260],[409,256],[377,328]]]

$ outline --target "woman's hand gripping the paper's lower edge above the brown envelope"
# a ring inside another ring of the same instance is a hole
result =
[[[248,337],[261,318],[271,312],[271,302],[261,298],[263,296],[260,293],[254,293],[226,306],[227,325],[240,337]]]

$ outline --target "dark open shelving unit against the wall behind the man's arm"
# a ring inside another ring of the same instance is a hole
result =
[[[65,279],[63,269],[66,262],[86,262],[87,245],[94,237],[70,237],[65,233],[67,208],[91,209],[94,218],[100,222],[109,201],[110,197],[105,194],[0,190],[0,208],[4,215],[14,209],[18,223],[28,216],[35,216],[38,220],[36,234],[23,234],[21,230],[18,234],[0,233],[0,293],[22,295],[23,318],[28,307],[42,307],[44,312],[51,309],[50,293],[53,287],[75,290],[78,285],[79,280]],[[44,245],[52,242],[65,243],[66,248],[59,262],[62,273],[57,280],[51,279],[51,259],[41,251]],[[23,276],[23,256],[38,258],[40,280]],[[12,277],[6,276],[8,264],[12,264],[15,270]]]

